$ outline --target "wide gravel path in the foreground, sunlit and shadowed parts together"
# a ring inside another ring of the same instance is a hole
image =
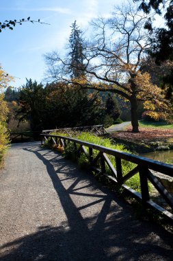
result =
[[[0,172],[1,261],[172,260],[170,233],[39,146],[13,144]]]

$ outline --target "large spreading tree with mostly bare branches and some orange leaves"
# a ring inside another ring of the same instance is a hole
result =
[[[111,18],[92,21],[94,36],[85,43],[83,78],[72,82],[82,88],[111,91],[131,103],[131,124],[138,132],[137,100],[143,100],[148,114],[163,117],[169,106],[164,95],[150,82],[148,73],[140,71],[142,60],[150,49],[151,34],[144,30],[148,15],[134,8],[122,5],[115,8]],[[62,60],[57,54],[47,55],[49,73],[55,80],[70,83],[69,58]],[[77,68],[80,69],[80,68]]]

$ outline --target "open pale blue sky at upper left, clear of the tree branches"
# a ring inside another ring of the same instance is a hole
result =
[[[49,23],[23,23],[13,31],[0,33],[0,63],[14,76],[14,87],[25,84],[26,78],[42,81],[45,73],[43,55],[55,49],[64,52],[70,35],[70,25],[84,31],[97,16],[108,16],[118,0],[1,0],[1,23],[5,20],[31,19]],[[20,79],[19,79],[20,78]]]

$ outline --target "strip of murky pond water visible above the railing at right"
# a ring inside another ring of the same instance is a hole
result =
[[[148,152],[141,154],[140,156],[149,159],[154,159],[155,161],[162,161],[165,163],[173,164],[173,150],[161,150],[155,152]]]

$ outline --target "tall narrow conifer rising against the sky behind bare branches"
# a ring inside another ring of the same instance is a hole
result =
[[[70,43],[70,77],[71,78],[81,78],[84,75],[82,69],[83,64],[83,39],[82,32],[79,30],[77,23],[72,23],[72,30],[70,33],[69,43]]]

